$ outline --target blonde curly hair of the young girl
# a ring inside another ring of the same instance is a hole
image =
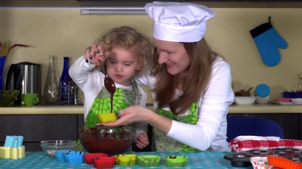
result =
[[[147,59],[151,59],[152,56],[152,42],[145,35],[131,27],[122,26],[105,31],[94,43],[98,44],[99,42],[104,43],[104,51],[110,52],[113,47],[124,47],[136,53],[141,63],[140,70],[136,72],[136,75],[144,72]],[[105,63],[104,68],[106,69]]]

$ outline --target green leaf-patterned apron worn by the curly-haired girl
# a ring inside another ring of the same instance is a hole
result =
[[[132,105],[140,105],[142,94],[140,94],[138,84],[136,83],[135,80],[132,80],[132,89],[133,90],[116,88],[116,91],[114,92],[113,95],[113,106],[112,106],[113,112],[117,112],[121,109],[127,108]],[[108,113],[110,111],[111,111],[110,95],[106,87],[103,86],[89,109],[89,112],[85,120],[85,128],[95,127],[95,124],[100,122],[97,115]],[[85,151],[85,149],[80,144],[79,140],[77,140],[76,142],[75,150]]]

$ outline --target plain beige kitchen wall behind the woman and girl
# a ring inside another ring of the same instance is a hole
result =
[[[296,89],[302,73],[302,8],[213,8],[217,12],[208,21],[206,39],[231,66],[234,91],[265,83],[271,97],[280,91]],[[280,49],[281,62],[275,67],[264,65],[249,30],[271,21],[277,32],[288,42]],[[152,21],[147,15],[80,15],[78,9],[0,9],[0,40],[25,43],[35,47],[15,48],[5,63],[21,61],[42,65],[43,86],[48,69],[48,56],[57,55],[58,78],[63,70],[63,57],[71,61],[81,56],[98,35],[109,28],[132,26],[151,37]],[[151,99],[149,98],[149,103]]]

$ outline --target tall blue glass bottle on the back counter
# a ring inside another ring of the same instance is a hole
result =
[[[60,78],[60,104],[65,104],[69,94],[69,57],[64,57],[64,67]]]

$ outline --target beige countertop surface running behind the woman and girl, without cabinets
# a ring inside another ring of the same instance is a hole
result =
[[[152,109],[152,107],[148,107]],[[83,106],[0,107],[0,115],[83,114]],[[229,113],[302,113],[302,105],[253,104],[231,105]]]

